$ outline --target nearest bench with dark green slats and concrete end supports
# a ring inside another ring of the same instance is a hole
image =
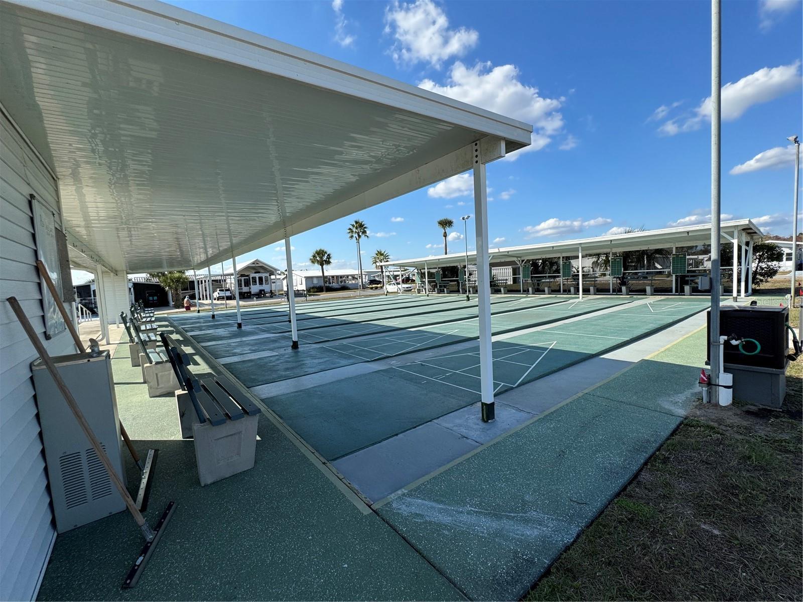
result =
[[[181,384],[178,423],[181,437],[194,440],[198,481],[205,486],[253,468],[259,407],[226,376],[196,378],[189,356],[164,332],[160,336]]]

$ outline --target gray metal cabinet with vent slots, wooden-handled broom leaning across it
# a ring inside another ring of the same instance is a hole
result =
[[[107,351],[75,353],[53,362],[89,427],[125,482],[120,417]],[[125,510],[95,449],[41,359],[31,364],[47,461],[56,531],[63,533]]]

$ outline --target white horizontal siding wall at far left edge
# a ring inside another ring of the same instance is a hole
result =
[[[56,183],[0,115],[0,599],[35,596],[55,539],[47,472],[31,380],[35,352],[6,297],[14,295],[44,339],[28,195],[56,213]],[[75,352],[65,330],[45,341],[52,355]]]

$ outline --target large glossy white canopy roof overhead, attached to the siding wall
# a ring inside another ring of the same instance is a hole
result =
[[[3,1],[0,28],[0,102],[70,234],[116,270],[228,260],[470,169],[475,140],[530,143],[528,124],[158,2]]]

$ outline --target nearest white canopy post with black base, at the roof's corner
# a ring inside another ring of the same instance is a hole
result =
[[[494,420],[494,366],[491,347],[491,282],[488,265],[488,202],[486,167],[474,143],[474,214],[479,309],[479,389],[483,422]]]

